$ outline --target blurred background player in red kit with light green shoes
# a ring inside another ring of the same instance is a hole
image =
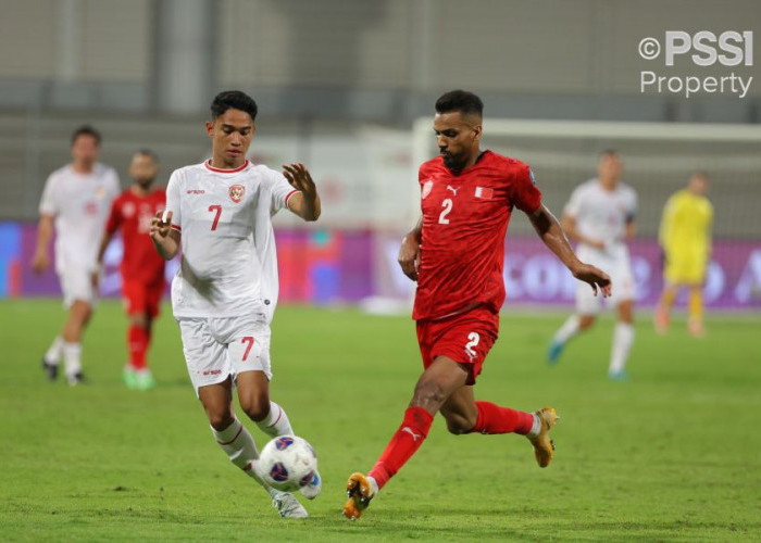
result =
[[[102,269],[105,249],[116,231],[122,231],[122,295],[129,316],[129,362],[123,376],[128,388],[138,390],[155,386],[148,369],[146,354],[151,340],[151,325],[159,315],[164,292],[165,261],[155,252],[148,235],[153,215],[162,211],[166,203],[164,190],[151,188],[158,175],[158,159],[152,151],[140,150],[135,153],[129,164],[129,177],[134,182],[114,200],[105,224],[105,236],[98,251],[98,268]]]

